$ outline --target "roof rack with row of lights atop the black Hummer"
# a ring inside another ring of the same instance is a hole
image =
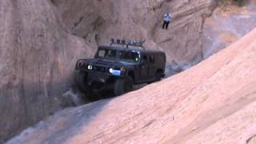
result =
[[[146,42],[146,40],[143,41],[136,41],[136,40],[129,40],[128,42],[126,42],[126,40],[124,39],[114,39],[111,38],[110,39],[110,46],[112,46],[113,44],[117,44],[117,45],[122,45],[123,47],[126,47],[127,49],[129,48],[129,46],[135,46],[138,48],[142,48],[143,50],[145,50],[145,47],[143,46],[144,42]]]

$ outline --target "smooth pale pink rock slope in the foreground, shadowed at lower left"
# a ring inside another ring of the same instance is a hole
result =
[[[7,143],[254,142],[255,71],[256,29],[190,70],[62,110]]]

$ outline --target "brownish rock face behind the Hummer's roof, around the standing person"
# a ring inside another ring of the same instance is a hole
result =
[[[214,0],[53,0],[72,34],[92,45],[110,38],[146,39],[146,46],[165,50],[168,62],[180,65],[202,60],[202,27],[216,6]],[[162,16],[173,22],[162,30]]]

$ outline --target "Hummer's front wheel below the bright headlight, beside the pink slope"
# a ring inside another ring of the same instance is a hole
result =
[[[130,76],[126,76],[125,78],[118,78],[114,83],[114,94],[118,96],[133,90],[133,84],[133,78]]]

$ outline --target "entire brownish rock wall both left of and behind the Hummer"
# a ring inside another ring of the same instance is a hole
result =
[[[110,38],[146,39],[146,46],[166,51],[175,72],[183,63],[198,62],[202,24],[215,4],[214,0],[2,0],[0,139],[65,106],[62,94],[73,84],[76,60],[92,57],[95,47]],[[169,30],[161,30],[164,13],[174,17]]]

